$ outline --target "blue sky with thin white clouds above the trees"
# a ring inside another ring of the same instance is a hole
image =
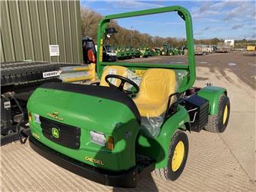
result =
[[[181,5],[192,15],[194,38],[256,39],[255,1],[87,0],[81,5],[101,15]],[[153,36],[185,37],[184,22],[175,13],[118,19],[118,24]]]

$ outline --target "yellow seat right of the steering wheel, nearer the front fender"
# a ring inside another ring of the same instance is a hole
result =
[[[141,79],[140,91],[134,101],[142,117],[156,118],[165,114],[168,98],[173,93],[175,71],[150,68]]]

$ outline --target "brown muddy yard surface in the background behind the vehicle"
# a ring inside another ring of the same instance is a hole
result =
[[[196,55],[198,67],[210,68],[211,72],[219,71],[226,80],[232,82],[226,74],[226,70],[232,71],[241,81],[256,89],[256,52],[230,52],[214,53],[211,55]],[[158,64],[187,64],[187,55],[155,56],[149,58],[134,58],[121,60],[120,62],[158,63]],[[198,77],[199,78],[199,77]]]

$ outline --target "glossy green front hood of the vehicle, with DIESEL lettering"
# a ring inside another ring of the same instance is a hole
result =
[[[30,122],[32,135],[55,151],[107,170],[128,170],[135,166],[134,149],[139,124],[125,104],[85,94],[38,88],[28,100],[28,111],[54,121],[58,120],[47,114],[58,111],[63,118],[58,122],[81,128],[80,148],[74,150],[48,140],[42,134],[40,124]],[[108,136],[113,137],[114,150],[92,143],[89,131],[104,133],[106,140]],[[128,138],[125,137],[127,133]],[[85,161],[85,157],[100,160],[104,166]]]

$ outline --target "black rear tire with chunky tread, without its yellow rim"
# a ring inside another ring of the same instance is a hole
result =
[[[227,111],[227,118],[224,121],[224,111],[225,108],[228,108]],[[229,98],[225,94],[221,94],[221,97],[218,101],[218,114],[209,115],[208,124],[204,127],[205,131],[210,131],[213,133],[222,133],[226,130],[228,125],[230,114],[230,102]]]

